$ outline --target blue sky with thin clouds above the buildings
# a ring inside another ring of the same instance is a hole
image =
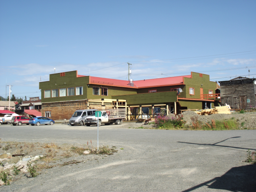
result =
[[[41,96],[40,77],[49,80],[54,68],[125,80],[127,62],[134,80],[194,71],[220,81],[248,77],[246,66],[256,77],[255,7],[234,0],[0,0],[0,95],[7,82],[16,97]],[[240,69],[223,70],[232,68]]]

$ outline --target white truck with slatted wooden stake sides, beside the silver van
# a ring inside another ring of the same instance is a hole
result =
[[[125,119],[126,116],[126,109],[102,109],[97,110],[101,111],[101,117],[99,117],[99,126],[101,124],[110,125],[115,123],[116,125],[122,124],[123,119]],[[87,117],[85,119],[85,125],[97,125],[97,117]]]

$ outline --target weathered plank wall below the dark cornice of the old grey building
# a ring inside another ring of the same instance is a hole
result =
[[[255,87],[254,83],[221,85],[221,106],[227,103],[232,109],[255,107]],[[247,99],[250,99],[250,103]]]

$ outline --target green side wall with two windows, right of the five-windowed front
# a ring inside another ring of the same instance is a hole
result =
[[[100,88],[100,95],[93,95],[93,87]],[[101,87],[108,88],[108,96],[101,95]],[[92,85],[87,86],[87,98],[88,99],[111,99],[112,95],[129,95],[137,94],[137,89],[126,88],[126,87],[115,87],[115,86],[105,86],[105,85]]]

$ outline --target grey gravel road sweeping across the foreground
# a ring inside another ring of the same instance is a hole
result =
[[[139,125],[140,126],[140,125]],[[139,127],[138,126],[138,127]],[[115,145],[107,157],[53,167],[35,178],[20,175],[0,191],[255,191],[256,130],[190,131],[101,126],[99,143]],[[97,127],[0,126],[2,141],[97,145]],[[123,148],[121,150],[120,148]]]

